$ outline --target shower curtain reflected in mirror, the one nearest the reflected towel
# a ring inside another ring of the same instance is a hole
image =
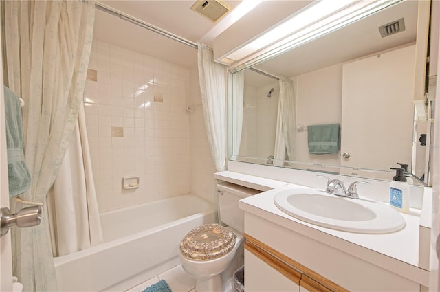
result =
[[[287,160],[296,160],[296,79],[280,77],[280,103]],[[279,110],[279,107],[278,107]]]

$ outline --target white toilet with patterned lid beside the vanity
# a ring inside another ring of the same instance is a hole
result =
[[[192,229],[180,242],[181,267],[196,280],[196,292],[224,291],[232,273],[243,265],[244,212],[239,200],[259,190],[233,183],[217,185],[219,224]]]

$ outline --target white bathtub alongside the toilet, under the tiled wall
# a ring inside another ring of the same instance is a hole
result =
[[[104,243],[54,258],[58,291],[126,291],[179,265],[179,243],[214,222],[212,204],[192,194],[100,215]]]

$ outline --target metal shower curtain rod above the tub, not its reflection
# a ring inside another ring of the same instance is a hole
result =
[[[129,21],[130,23],[133,23],[137,26],[143,27],[146,30],[150,30],[151,32],[155,32],[157,34],[160,34],[162,36],[166,36],[167,38],[170,38],[174,41],[178,41],[179,43],[183,43],[184,45],[188,45],[190,47],[193,47],[195,49],[197,49],[197,43],[194,43],[192,41],[188,41],[185,38],[182,38],[180,36],[177,36],[175,34],[172,34],[170,32],[167,32],[166,30],[162,30],[159,27],[155,27],[154,25],[151,25],[149,23],[146,23],[144,21],[141,21],[139,19],[135,19],[133,16],[130,16],[128,14],[122,14],[122,12],[119,12],[118,10],[115,10],[113,8],[110,8],[107,5],[104,5],[102,3],[96,2],[95,3],[95,8],[99,9],[103,12],[106,12],[108,14],[111,14],[113,16],[117,16],[120,19],[123,19],[124,21]]]

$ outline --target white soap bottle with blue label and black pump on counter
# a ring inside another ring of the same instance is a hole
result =
[[[408,213],[410,201],[410,186],[404,176],[404,168],[391,168],[396,170],[396,175],[390,183],[390,205],[396,210]]]

